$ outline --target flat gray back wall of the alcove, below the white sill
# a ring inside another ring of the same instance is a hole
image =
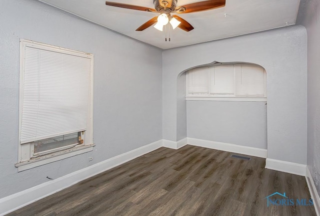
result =
[[[267,149],[265,102],[187,101],[187,137]]]

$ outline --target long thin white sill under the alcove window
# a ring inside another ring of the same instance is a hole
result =
[[[185,100],[206,101],[261,101],[266,102],[266,97],[208,97],[208,96],[186,96]]]

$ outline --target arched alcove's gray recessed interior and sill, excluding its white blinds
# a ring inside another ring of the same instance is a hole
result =
[[[263,67],[252,62],[213,61],[187,68],[177,75],[177,140],[188,137],[203,141],[267,149],[267,105],[265,97],[198,97],[186,100],[187,71],[207,67],[225,66],[225,68],[230,68],[232,65],[254,65],[256,68],[264,70]]]

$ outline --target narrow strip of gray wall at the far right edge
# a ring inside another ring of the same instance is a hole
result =
[[[307,3],[306,3],[307,2]],[[320,194],[320,2],[301,0],[298,22],[307,31],[307,166]]]

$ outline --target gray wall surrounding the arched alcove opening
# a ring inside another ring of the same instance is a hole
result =
[[[255,63],[267,71],[267,157],[306,164],[306,39],[298,25],[164,50],[163,139],[177,140],[180,72],[213,61]]]

